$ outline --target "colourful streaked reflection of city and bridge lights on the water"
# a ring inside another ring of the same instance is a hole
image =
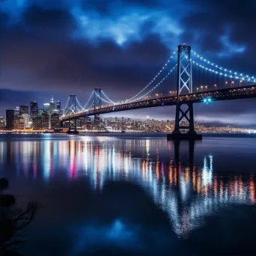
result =
[[[130,181],[167,213],[182,239],[201,228],[204,217],[256,202],[255,174],[219,174],[210,152],[204,152],[202,165],[195,165],[193,159],[177,159],[174,144],[165,139],[67,138],[0,141],[0,176],[11,166],[14,176],[43,178],[45,183],[88,177],[97,192],[108,181]]]

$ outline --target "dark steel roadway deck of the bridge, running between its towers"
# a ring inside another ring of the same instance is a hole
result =
[[[204,91],[195,94],[180,95],[180,103],[202,103],[204,99],[211,100],[238,100],[256,97],[256,85],[243,86],[237,88],[227,88],[214,91]],[[75,115],[61,117],[61,121],[82,118],[91,115],[101,115],[112,112],[121,112],[132,109],[145,109],[157,106],[177,105],[177,96],[162,97],[157,99],[142,100],[134,103],[124,103],[121,105],[103,106],[100,109],[89,110],[88,112],[79,112]]]

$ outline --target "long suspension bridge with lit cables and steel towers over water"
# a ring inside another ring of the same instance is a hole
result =
[[[200,139],[194,129],[194,103],[253,97],[256,97],[256,77],[229,70],[194,52],[191,46],[180,45],[156,76],[134,96],[115,102],[101,88],[95,88],[82,106],[76,95],[70,95],[61,122],[68,121],[69,132],[76,133],[76,120],[86,116],[94,116],[97,122],[102,114],[176,106],[174,132],[168,137]]]

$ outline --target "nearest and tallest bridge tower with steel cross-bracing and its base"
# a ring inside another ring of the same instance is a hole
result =
[[[177,51],[177,106],[175,115],[174,132],[168,138],[176,139],[200,139],[201,135],[195,132],[194,112],[192,103],[181,103],[181,94],[192,94],[192,61],[191,46],[180,45]],[[186,120],[189,126],[181,125]],[[181,133],[180,129],[189,129],[187,133]]]

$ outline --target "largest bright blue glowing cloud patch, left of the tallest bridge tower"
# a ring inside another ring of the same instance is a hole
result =
[[[178,37],[182,28],[165,11],[154,11],[143,8],[126,8],[120,13],[102,15],[95,11],[82,10],[81,7],[71,9],[73,17],[79,25],[76,37],[90,40],[111,39],[122,46],[131,41],[143,40],[146,34],[159,34],[163,42],[170,37]],[[149,30],[143,31],[144,25],[150,24]]]

